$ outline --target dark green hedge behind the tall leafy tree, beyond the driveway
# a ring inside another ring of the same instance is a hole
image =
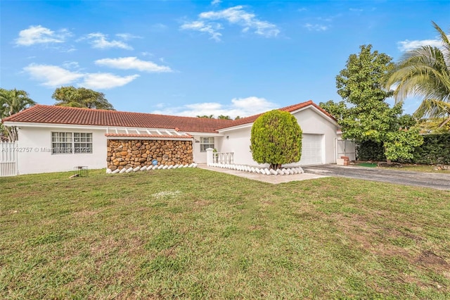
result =
[[[382,143],[366,141],[356,145],[356,154],[361,161],[385,161]],[[424,135],[422,146],[413,152],[413,158],[399,163],[420,163],[425,165],[450,164],[450,133]]]

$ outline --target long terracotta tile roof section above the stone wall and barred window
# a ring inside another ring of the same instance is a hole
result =
[[[37,104],[25,109],[25,111],[4,118],[3,122],[178,128],[178,130],[184,132],[216,132],[216,128],[226,127],[233,121]]]

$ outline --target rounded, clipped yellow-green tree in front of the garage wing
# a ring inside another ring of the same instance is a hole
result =
[[[250,137],[250,150],[257,163],[269,163],[276,170],[283,163],[300,161],[302,129],[287,111],[268,111],[255,120]]]

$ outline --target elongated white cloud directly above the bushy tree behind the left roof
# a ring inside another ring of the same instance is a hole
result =
[[[72,62],[65,65],[66,68],[70,66],[77,67],[77,63]],[[132,80],[139,77],[139,75],[129,75],[120,77],[110,73],[80,73],[78,71],[71,71],[61,68],[58,65],[39,65],[31,63],[23,68],[32,79],[41,82],[46,87],[60,87],[63,85],[78,85],[94,89],[110,89],[113,87],[121,87]],[[79,80],[82,80],[79,83]]]

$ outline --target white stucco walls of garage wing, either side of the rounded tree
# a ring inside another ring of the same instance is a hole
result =
[[[306,108],[294,115],[304,134],[323,135],[323,163],[335,163],[336,125],[327,118],[323,118],[321,113],[316,112],[314,108]],[[236,164],[259,165],[253,161],[250,152],[251,130],[252,124],[233,130],[221,130],[224,137],[220,141],[218,151],[234,152],[234,163]],[[299,165],[299,163],[292,165]]]

